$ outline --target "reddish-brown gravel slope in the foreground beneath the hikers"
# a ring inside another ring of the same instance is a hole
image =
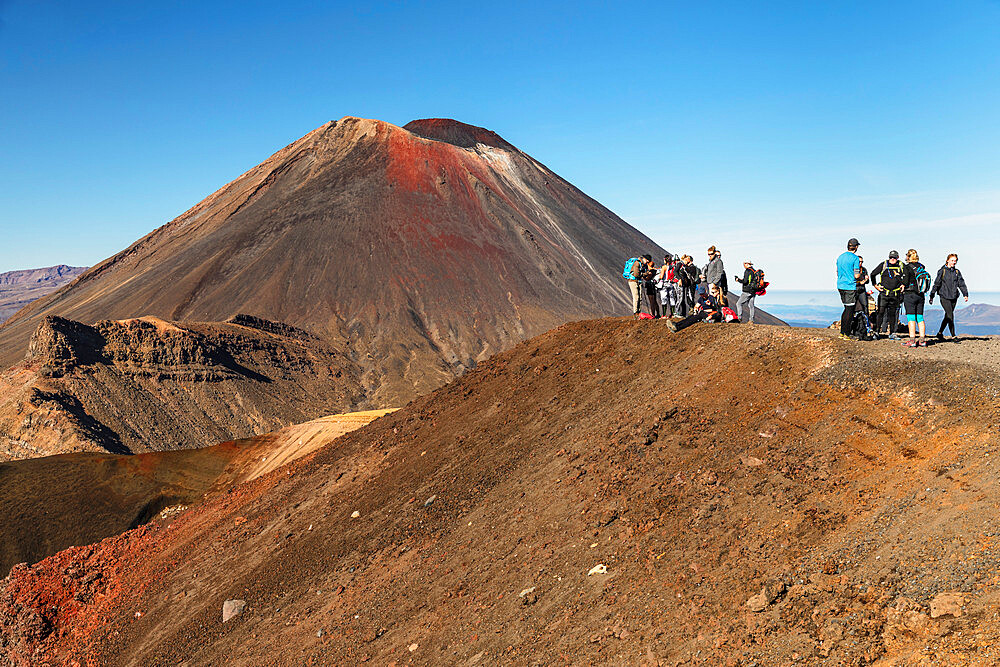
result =
[[[15,567],[0,652],[995,664],[1000,364],[938,348],[568,324],[168,527]]]

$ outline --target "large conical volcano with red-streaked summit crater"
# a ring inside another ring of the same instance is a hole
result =
[[[88,324],[237,312],[351,341],[375,405],[398,405],[572,319],[627,312],[648,238],[496,134],[343,118],[0,328],[17,362],[46,315]]]

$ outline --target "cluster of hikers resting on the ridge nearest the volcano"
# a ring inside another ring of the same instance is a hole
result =
[[[691,255],[663,256],[657,266],[652,256],[631,257],[625,262],[622,277],[632,293],[633,317],[666,318],[673,331],[695,322],[740,322],[746,309],[753,323],[754,299],[766,293],[764,272],[755,269],[751,260],[743,262],[743,276],[733,276],[742,286],[736,311],[729,307],[729,282],[722,263],[722,253],[715,246],[708,249],[708,263],[699,268]],[[649,313],[642,312],[643,295]],[[680,318],[675,320],[673,318]]]

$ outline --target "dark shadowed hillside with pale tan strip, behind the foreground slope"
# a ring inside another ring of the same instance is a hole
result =
[[[0,573],[117,535],[161,512],[173,514],[205,494],[224,492],[305,456],[386,412],[331,415],[201,449],[62,454],[0,463]]]

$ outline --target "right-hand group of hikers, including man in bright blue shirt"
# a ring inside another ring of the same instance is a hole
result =
[[[955,338],[955,304],[959,293],[969,300],[969,290],[965,278],[956,266],[958,255],[950,253],[937,276],[931,278],[927,268],[920,263],[920,255],[910,248],[906,251],[906,261],[901,262],[899,253],[889,252],[889,257],[880,262],[871,273],[864,266],[864,259],[857,254],[861,243],[857,239],[847,242],[847,251],[837,258],[837,290],[844,305],[840,317],[840,337],[854,339],[897,339],[899,309],[906,313],[907,347],[927,345],[924,328],[924,299],[934,303],[934,297],[941,299],[944,319],[938,329],[938,340],[944,340],[947,326],[952,339]],[[878,300],[872,304],[867,285],[878,292]],[[928,298],[929,297],[929,298]],[[872,308],[874,305],[874,308]]]

